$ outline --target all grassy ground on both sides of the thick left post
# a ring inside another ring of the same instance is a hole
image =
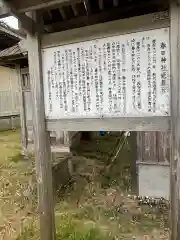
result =
[[[102,156],[100,148],[98,143],[98,161],[91,149],[90,159],[87,151],[87,158],[77,156],[78,174],[56,198],[57,240],[168,240],[167,205],[140,206],[127,196],[122,185],[130,184],[129,176],[120,177],[120,166],[112,169],[113,178],[104,176],[106,153]],[[84,155],[82,150],[80,155]],[[21,155],[19,131],[0,132],[0,172],[0,239],[38,240],[34,160]],[[81,176],[84,173],[88,180]]]

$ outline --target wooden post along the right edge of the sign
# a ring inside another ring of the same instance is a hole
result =
[[[171,0],[170,5],[170,40],[171,40],[171,127],[172,127],[172,146],[171,146],[171,240],[180,239],[180,124],[179,124],[179,20],[180,7],[176,0]]]

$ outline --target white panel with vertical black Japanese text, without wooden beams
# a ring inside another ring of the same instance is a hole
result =
[[[48,119],[168,116],[169,29],[43,50]]]

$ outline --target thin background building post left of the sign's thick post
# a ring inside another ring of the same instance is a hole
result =
[[[23,96],[23,90],[22,90],[20,65],[16,65],[16,71],[18,75],[18,84],[19,84],[21,145],[22,145],[23,154],[25,154],[25,152],[27,151],[28,136],[27,136],[26,111],[25,111],[25,103],[24,103],[24,96]]]

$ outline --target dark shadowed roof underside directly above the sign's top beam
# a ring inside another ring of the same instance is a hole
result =
[[[56,32],[167,9],[164,0],[84,0],[44,9],[43,18],[45,30]]]

